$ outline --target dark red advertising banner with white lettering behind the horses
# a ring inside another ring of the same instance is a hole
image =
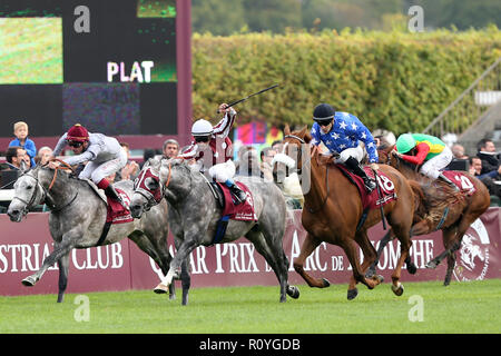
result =
[[[283,247],[288,258],[291,284],[304,284],[294,270],[293,261],[299,255],[306,231],[301,225],[301,210],[289,215]],[[21,280],[38,270],[52,251],[53,241],[48,229],[48,214],[32,212],[22,222],[11,222],[0,216],[0,295],[57,294],[58,267],[49,268],[33,287],[24,287]],[[500,278],[501,209],[490,208],[466,231],[456,255],[453,281]],[[369,237],[375,248],[385,231],[379,224],[371,228]],[[174,239],[168,238],[171,254]],[[443,251],[442,234],[412,238],[411,255],[418,273],[402,271],[403,281],[443,280],[446,259],[435,269],[425,268],[432,257]],[[389,244],[379,264],[379,274],[391,281],[391,274],[400,255],[397,240]],[[360,253],[363,258],[362,253]],[[277,279],[256,251],[253,244],[240,238],[235,243],[197,247],[190,255],[191,287],[277,285]],[[304,269],[315,277],[333,284],[347,284],[352,275],[346,255],[338,246],[321,244],[307,258]],[[128,290],[154,288],[161,271],[156,264],[129,239],[100,247],[75,249],[70,253],[68,293]],[[180,283],[176,281],[180,287]]]

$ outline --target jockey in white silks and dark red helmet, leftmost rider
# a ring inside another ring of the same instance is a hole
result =
[[[59,156],[65,146],[68,145],[75,156],[63,159],[70,166],[87,162],[78,178],[91,179],[105,195],[128,209],[120,195],[109,184],[106,177],[120,170],[127,164],[127,154],[118,144],[117,139],[102,134],[91,134],[80,123],[71,127],[61,136],[52,156]]]

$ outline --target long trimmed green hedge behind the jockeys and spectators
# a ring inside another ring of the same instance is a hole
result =
[[[501,56],[501,31],[344,30],[193,37],[194,118],[220,102],[281,87],[237,106],[239,123],[311,125],[330,102],[374,130],[421,131]]]

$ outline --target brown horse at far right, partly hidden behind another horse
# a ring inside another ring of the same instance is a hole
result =
[[[445,182],[439,179],[432,181],[432,179],[418,171],[419,167],[393,155],[393,145],[389,145],[384,140],[381,142],[377,148],[380,162],[396,168],[406,178],[414,180],[411,185],[418,199],[414,211],[415,224],[411,229],[411,236],[442,230],[445,250],[430,260],[426,267],[435,268],[442,259],[448,257],[448,270],[443,283],[444,286],[448,286],[451,283],[452,270],[455,264],[455,251],[461,247],[464,234],[470,225],[490,206],[489,190],[478,178],[462,171],[463,177],[459,178],[462,189],[460,192],[455,192]],[[377,259],[371,265],[367,276],[372,276],[375,273],[375,266],[384,246],[393,239],[390,230],[381,239],[377,248]]]

